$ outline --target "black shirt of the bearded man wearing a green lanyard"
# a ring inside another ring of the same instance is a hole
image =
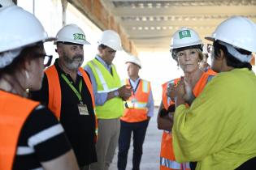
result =
[[[93,111],[92,98],[89,89],[83,81],[80,74],[76,76],[74,82],[69,74],[61,70],[58,60],[54,63],[59,74],[59,83],[61,87],[61,114],[60,122],[67,134],[67,138],[72,144],[75,151],[76,159],[80,166],[91,164],[97,161],[95,149],[95,115]],[[80,115],[78,105],[80,101],[76,93],[65,82],[61,74],[65,74],[67,79],[72,82],[76,90],[79,91],[80,79],[82,79],[81,97],[83,104],[86,104],[89,115]],[[40,91],[31,92],[30,96],[33,100],[41,101],[42,104],[48,105],[49,102],[49,87],[46,74],[43,79],[42,88]]]

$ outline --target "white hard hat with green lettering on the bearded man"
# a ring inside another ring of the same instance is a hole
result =
[[[86,40],[85,32],[79,28],[76,24],[68,24],[61,28],[56,35],[54,45],[57,42],[68,42],[79,45],[89,45],[90,43]]]

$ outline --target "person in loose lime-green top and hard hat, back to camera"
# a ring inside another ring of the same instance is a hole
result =
[[[249,64],[256,51],[256,25],[233,16],[215,29],[211,68],[219,73],[193,100],[182,79],[176,87],[172,128],[176,160],[201,169],[256,169],[256,76]],[[193,100],[187,108],[187,100]]]

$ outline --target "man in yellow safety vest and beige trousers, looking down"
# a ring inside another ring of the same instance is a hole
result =
[[[91,170],[110,167],[119,138],[119,117],[124,113],[123,100],[127,100],[132,92],[126,85],[121,86],[119,74],[112,64],[117,50],[122,50],[118,33],[105,30],[98,40],[98,54],[85,66],[92,80],[98,117],[98,162],[92,164]]]

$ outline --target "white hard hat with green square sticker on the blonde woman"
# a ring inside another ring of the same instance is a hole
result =
[[[189,47],[193,45],[202,45],[202,40],[200,39],[197,32],[191,28],[180,28],[171,36],[170,51],[172,51],[172,49]]]

